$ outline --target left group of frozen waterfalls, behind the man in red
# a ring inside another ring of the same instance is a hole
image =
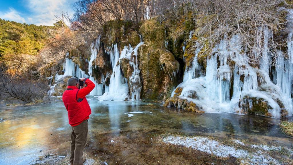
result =
[[[110,56],[110,63],[112,66],[112,75],[101,75],[101,83],[99,84],[93,76],[93,65],[94,60],[97,58],[97,53],[100,51],[100,36],[96,38],[95,41],[91,44],[91,57],[88,61],[88,74],[85,71],[79,68],[79,65],[75,64],[71,58],[69,58],[69,53],[67,52],[65,61],[63,63],[63,75],[55,75],[55,81],[65,77],[65,76],[74,76],[78,78],[87,77],[91,81],[93,81],[96,85],[95,89],[90,92],[90,95],[100,96],[99,100],[130,100],[129,91],[131,93],[131,100],[138,101],[140,98],[141,91],[141,78],[140,78],[140,70],[138,68],[139,62],[137,59],[137,50],[139,46],[143,44],[142,38],[140,36],[141,42],[135,47],[132,48],[131,45],[125,46],[121,52],[121,55],[118,50],[117,44],[108,47],[105,50]],[[129,60],[130,66],[133,68],[133,73],[129,78],[129,82],[127,78],[123,76],[122,70],[120,69],[119,61],[123,58]],[[110,84],[109,86],[105,85],[105,80],[110,76]],[[52,78],[51,78],[52,79]],[[48,80],[50,80],[48,78]],[[128,85],[129,83],[129,85]],[[50,84],[51,85],[51,84]],[[103,90],[103,87],[105,88]],[[51,89],[48,93],[54,92],[54,85],[51,86]]]

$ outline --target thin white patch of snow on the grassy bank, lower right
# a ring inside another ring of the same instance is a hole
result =
[[[228,146],[219,143],[216,140],[212,140],[206,137],[176,137],[168,136],[163,138],[163,142],[167,144],[174,144],[183,147],[190,147],[192,149],[206,152],[208,154],[213,154],[218,157],[235,157],[241,160],[242,164],[282,164],[275,158],[272,158],[265,151],[270,151],[271,149],[276,151],[281,151],[282,147],[274,146],[264,146],[264,145],[250,145],[247,147],[260,149],[257,152],[248,152],[243,149],[237,149],[233,146]],[[240,142],[240,141],[239,141]],[[242,143],[241,143],[242,144]],[[287,152],[291,153],[290,149],[284,148]]]

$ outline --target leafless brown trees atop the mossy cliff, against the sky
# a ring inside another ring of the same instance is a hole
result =
[[[81,0],[74,5],[74,16],[67,14],[66,18],[72,30],[86,31],[96,37],[102,26],[110,20],[142,21],[146,7],[153,9],[151,3],[154,0]]]

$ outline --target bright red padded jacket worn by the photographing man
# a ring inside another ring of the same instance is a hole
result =
[[[84,83],[86,87],[82,89],[78,89],[76,86],[68,86],[62,95],[71,126],[79,125],[84,120],[89,119],[89,115],[91,115],[91,108],[86,100],[86,95],[95,88],[95,84],[88,78],[85,78]]]

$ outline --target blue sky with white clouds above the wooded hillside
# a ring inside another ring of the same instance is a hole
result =
[[[0,18],[35,25],[53,25],[54,15],[74,13],[77,0],[0,0]]]

